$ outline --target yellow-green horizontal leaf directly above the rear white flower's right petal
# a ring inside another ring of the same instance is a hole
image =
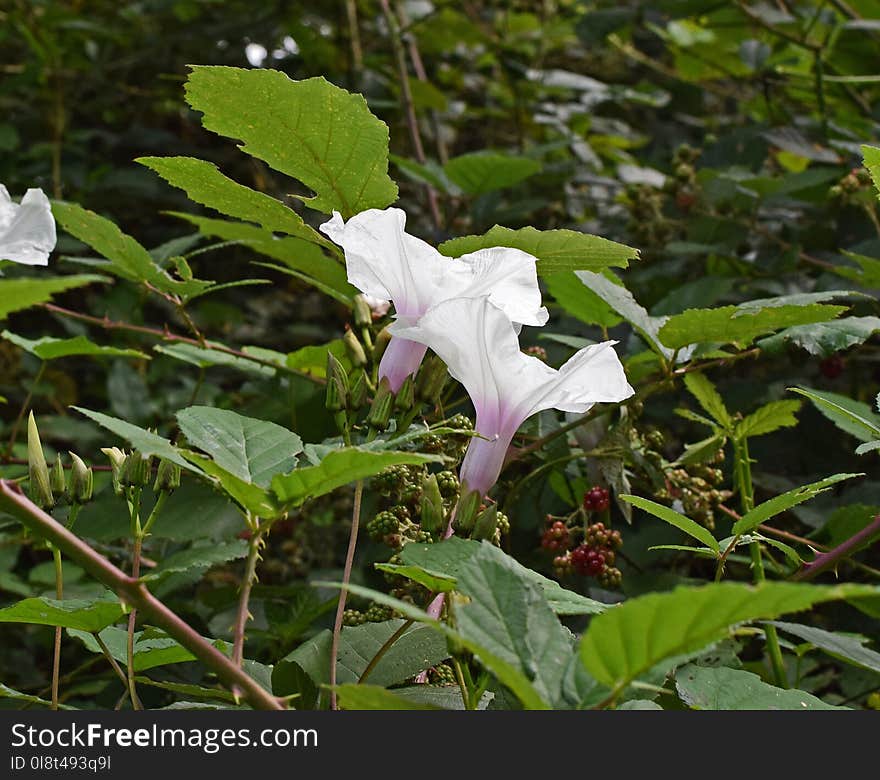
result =
[[[493,246],[521,249],[538,258],[538,273],[542,276],[558,271],[602,271],[610,266],[626,268],[639,256],[638,249],[576,230],[511,230],[500,225],[481,236],[444,241],[439,249],[448,257],[460,257]]]

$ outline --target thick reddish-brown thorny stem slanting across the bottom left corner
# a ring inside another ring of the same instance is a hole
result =
[[[56,545],[62,553],[113,590],[123,601],[147,615],[155,625],[216,672],[227,686],[241,688],[253,707],[261,710],[284,709],[279,699],[239,669],[216,647],[206,642],[192,626],[150,593],[144,583],[129,577],[51,515],[46,514],[14,482],[0,479],[0,508]]]

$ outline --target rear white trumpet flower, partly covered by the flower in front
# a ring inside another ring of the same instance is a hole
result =
[[[414,325],[431,306],[450,298],[488,296],[518,325],[543,325],[536,260],[519,249],[494,247],[450,259],[405,230],[400,209],[368,209],[344,222],[338,212],[321,231],[345,251],[348,281],[364,295],[394,304],[395,317]],[[379,364],[397,392],[425,356],[424,344],[392,338]]]

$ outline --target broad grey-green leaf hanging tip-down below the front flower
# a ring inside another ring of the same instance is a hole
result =
[[[561,696],[572,652],[571,635],[540,588],[488,542],[458,573],[457,590],[469,597],[455,608],[456,628],[466,639],[518,669],[541,698]]]

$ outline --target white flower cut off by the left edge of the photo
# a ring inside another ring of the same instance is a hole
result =
[[[55,240],[55,219],[43,191],[28,190],[18,204],[0,184],[0,260],[49,265]]]

